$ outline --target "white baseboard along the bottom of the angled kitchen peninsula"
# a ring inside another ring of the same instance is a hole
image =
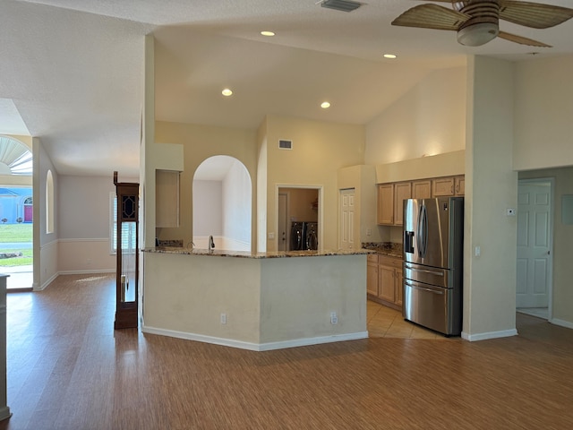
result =
[[[279,342],[268,342],[268,343],[252,343],[252,342],[244,342],[242,340],[204,336],[202,334],[187,333],[184,331],[158,329],[156,327],[146,326],[145,324],[141,324],[141,331],[144,333],[158,334],[159,336],[168,336],[171,338],[178,338],[185,340],[197,340],[200,342],[212,343],[214,345],[222,345],[231,348],[248,349],[251,351],[270,351],[273,349],[305,347],[309,345],[318,345],[322,343],[341,342],[344,340],[358,340],[358,339],[368,338],[368,331],[359,331],[355,333],[336,334],[332,336],[320,336],[317,338],[284,340]]]

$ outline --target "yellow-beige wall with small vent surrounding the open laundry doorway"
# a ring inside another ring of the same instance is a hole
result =
[[[279,140],[291,140],[292,150],[278,148]],[[322,187],[322,249],[338,248],[339,168],[363,163],[364,127],[311,121],[287,116],[267,117],[267,229],[278,229],[276,185]],[[275,235],[277,237],[278,235]],[[267,250],[277,251],[275,239]]]

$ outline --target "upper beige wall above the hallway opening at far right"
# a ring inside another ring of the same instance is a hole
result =
[[[518,62],[515,76],[513,168],[573,166],[573,54]]]

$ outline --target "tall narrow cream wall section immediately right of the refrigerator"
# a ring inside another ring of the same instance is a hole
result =
[[[474,56],[468,69],[462,336],[481,340],[517,334],[513,65]]]

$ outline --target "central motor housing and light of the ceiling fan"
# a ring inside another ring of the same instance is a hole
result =
[[[459,43],[468,47],[479,47],[497,38],[500,32],[500,4],[497,0],[470,2],[459,12],[471,16],[459,27]]]

